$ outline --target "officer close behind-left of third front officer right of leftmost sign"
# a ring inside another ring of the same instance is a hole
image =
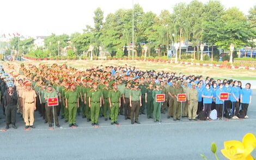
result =
[[[101,89],[101,92],[102,92],[103,116],[105,118],[105,121],[107,121],[108,119],[107,111],[109,111],[109,114],[111,115],[111,110],[109,110],[109,100],[108,100],[108,92],[110,90],[109,81],[106,80],[104,84],[105,84],[105,87]]]

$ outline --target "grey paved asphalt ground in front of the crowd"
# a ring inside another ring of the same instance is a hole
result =
[[[100,118],[100,127],[94,128],[81,116],[76,129],[60,120],[62,127],[48,130],[48,125],[35,113],[35,129],[25,131],[20,116],[15,130],[0,132],[1,159],[202,159],[203,153],[215,159],[210,146],[216,142],[218,155],[225,140],[242,140],[248,133],[256,135],[256,91],[248,108],[249,119],[223,121],[174,122],[162,114],[162,123],[154,123],[145,115],[141,124],[119,116],[121,126],[110,125]],[[0,129],[5,128],[1,108]],[[256,157],[256,151],[253,156]]]

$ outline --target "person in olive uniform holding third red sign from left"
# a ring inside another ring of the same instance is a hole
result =
[[[180,120],[180,114],[181,114],[181,102],[177,101],[178,94],[184,93],[183,88],[181,87],[181,81],[177,82],[177,86],[174,88],[174,105],[173,105],[173,120],[176,121],[176,119]]]

